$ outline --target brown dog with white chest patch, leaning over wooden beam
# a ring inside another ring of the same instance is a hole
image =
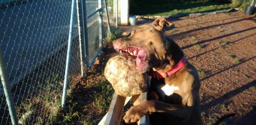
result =
[[[164,37],[164,25],[172,23],[158,18],[152,24],[139,26],[130,37],[113,42],[115,50],[136,56],[138,72],[150,71],[153,75],[151,100],[130,108],[124,121],[136,122],[152,114],[153,125],[201,125],[199,75],[177,43]]]

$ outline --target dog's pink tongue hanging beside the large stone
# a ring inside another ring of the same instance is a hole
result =
[[[145,50],[140,50],[137,54],[137,58],[136,58],[136,65],[137,65],[137,71],[138,72],[145,72],[145,68],[147,65],[146,62],[146,51]]]

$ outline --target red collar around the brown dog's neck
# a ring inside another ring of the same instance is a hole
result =
[[[179,71],[182,67],[185,66],[186,62],[187,62],[187,58],[184,55],[183,58],[181,58],[181,60],[176,65],[174,65],[171,70],[167,71],[166,73],[161,74],[156,71],[147,71],[147,74],[154,78],[163,79],[163,78],[166,78],[166,77],[172,75],[173,73]]]

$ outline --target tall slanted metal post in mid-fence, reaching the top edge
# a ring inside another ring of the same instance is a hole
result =
[[[75,14],[75,0],[72,0],[71,19],[70,19],[70,26],[69,26],[69,37],[68,37],[67,55],[66,55],[66,69],[65,69],[65,78],[64,78],[64,84],[63,84],[63,93],[62,93],[62,109],[65,108],[65,104],[66,104],[66,90],[68,86],[68,75],[69,75],[69,67],[71,62],[74,14]]]

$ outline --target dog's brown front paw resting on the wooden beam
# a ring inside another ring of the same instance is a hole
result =
[[[126,112],[124,116],[124,121],[125,123],[137,122],[140,120],[141,117],[146,115],[146,113],[147,109],[145,107],[142,107],[140,105],[133,106]]]

